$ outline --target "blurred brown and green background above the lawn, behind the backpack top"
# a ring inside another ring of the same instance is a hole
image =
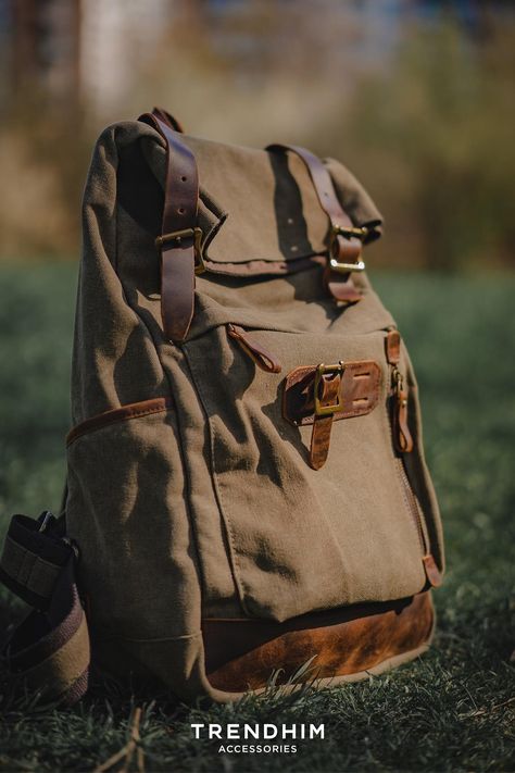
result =
[[[0,0],[0,259],[76,261],[92,142],[161,104],[342,160],[375,265],[513,266],[514,95],[515,2]]]

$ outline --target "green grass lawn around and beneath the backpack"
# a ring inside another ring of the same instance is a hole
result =
[[[430,652],[359,685],[209,711],[141,703],[112,686],[71,711],[0,698],[0,769],[92,770],[125,745],[135,701],[147,771],[515,769],[515,277],[381,274],[375,284],[415,363],[444,519],[449,568]],[[0,288],[4,526],[11,512],[59,508],[75,272],[2,269]],[[0,602],[5,626],[20,607],[7,593]],[[324,721],[326,738],[297,755],[224,757],[193,740],[194,721]]]

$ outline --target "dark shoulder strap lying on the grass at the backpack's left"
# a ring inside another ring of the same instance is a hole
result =
[[[72,705],[86,693],[88,624],[75,582],[75,551],[64,520],[14,515],[0,559],[0,581],[34,607],[3,647],[13,686]]]

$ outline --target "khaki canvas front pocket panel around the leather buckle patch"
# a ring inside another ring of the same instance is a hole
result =
[[[313,470],[312,426],[285,420],[281,374],[256,370],[223,327],[186,344],[246,612],[281,621],[419,591],[425,585],[419,537],[385,410],[385,332],[321,336],[260,329],[252,337],[274,353],[282,373],[321,362],[373,361],[380,384],[375,409],[335,422],[327,462]]]

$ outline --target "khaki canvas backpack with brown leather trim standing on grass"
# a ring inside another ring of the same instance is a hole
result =
[[[424,652],[441,523],[362,186],[154,109],[102,133],[83,214],[67,490],[5,539],[34,607],[11,672],[67,703],[91,663],[230,701]]]

